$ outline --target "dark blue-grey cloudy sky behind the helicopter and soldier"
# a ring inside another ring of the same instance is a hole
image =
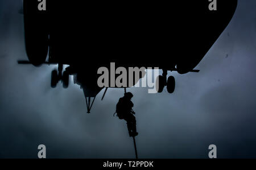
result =
[[[56,66],[18,65],[26,59],[21,1],[0,0],[0,157],[134,158],[126,123],[113,117],[123,90],[101,92],[91,114],[79,86],[50,88]],[[141,158],[256,158],[256,1],[237,11],[201,63],[176,78],[174,94],[132,88]]]

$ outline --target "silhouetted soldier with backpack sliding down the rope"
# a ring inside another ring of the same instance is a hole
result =
[[[133,94],[130,92],[125,93],[125,96],[119,98],[115,113],[117,113],[119,119],[125,119],[129,135],[134,137],[138,135],[138,132],[134,116],[135,112],[132,109],[134,105],[131,102],[131,98],[133,98]]]

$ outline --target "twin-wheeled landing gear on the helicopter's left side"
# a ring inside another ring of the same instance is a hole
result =
[[[68,88],[69,85],[69,73],[68,71],[63,71],[63,65],[59,64],[58,71],[55,69],[52,71],[52,77],[51,77],[51,87],[56,88],[59,81],[62,82],[63,88]],[[59,73],[58,73],[59,72]]]

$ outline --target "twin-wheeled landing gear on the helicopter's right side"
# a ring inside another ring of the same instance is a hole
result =
[[[158,76],[156,78],[156,90],[158,93],[162,93],[164,86],[167,86],[167,91],[168,93],[174,93],[175,90],[175,78],[174,76],[168,77],[167,80],[167,70],[163,69],[163,74],[162,76]]]

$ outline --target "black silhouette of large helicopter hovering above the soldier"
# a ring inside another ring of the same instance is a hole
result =
[[[58,82],[68,88],[73,75],[74,83],[84,92],[88,113],[105,88],[97,85],[97,69],[109,68],[110,63],[125,68],[158,67],[163,71],[158,92],[167,86],[173,93],[175,78],[167,77],[167,72],[199,72],[195,67],[228,26],[237,7],[237,0],[212,3],[46,0],[46,6],[39,9],[42,2],[24,0],[28,60],[18,63],[36,67],[57,64],[51,74],[52,88]],[[211,5],[216,7],[210,9]],[[64,70],[63,65],[68,67]]]

